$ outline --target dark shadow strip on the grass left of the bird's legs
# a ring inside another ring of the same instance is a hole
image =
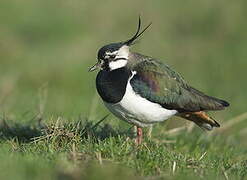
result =
[[[50,124],[35,121],[32,123],[13,123],[6,120],[0,120],[0,139],[11,140],[16,139],[18,142],[28,143],[45,137],[52,136],[78,136],[84,139],[104,140],[110,137],[118,137],[125,135],[134,137],[131,129],[120,130],[113,128],[108,123],[102,123],[107,116],[100,119],[98,122],[89,120],[78,120],[74,122],[55,122]],[[93,137],[93,138],[92,138]]]

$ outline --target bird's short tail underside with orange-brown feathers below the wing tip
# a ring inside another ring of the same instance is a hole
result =
[[[208,131],[211,131],[214,127],[220,127],[217,121],[203,111],[180,113],[179,116],[193,121],[196,125]]]

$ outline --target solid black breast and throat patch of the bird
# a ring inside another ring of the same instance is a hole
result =
[[[96,87],[101,98],[108,103],[120,102],[131,74],[125,67],[113,71],[101,70],[96,78]]]

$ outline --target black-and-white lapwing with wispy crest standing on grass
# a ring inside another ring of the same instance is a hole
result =
[[[99,49],[97,63],[89,71],[99,69],[96,89],[106,108],[136,127],[138,145],[143,127],[172,116],[192,121],[204,130],[220,127],[206,112],[225,109],[227,101],[193,88],[162,61],[130,50],[151,24],[141,31],[139,16],[137,31],[130,39]]]

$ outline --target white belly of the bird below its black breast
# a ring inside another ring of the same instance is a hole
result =
[[[105,106],[118,118],[137,126],[149,126],[164,121],[177,113],[157,103],[150,102],[136,94],[128,82],[123,99],[116,104],[105,103]]]

